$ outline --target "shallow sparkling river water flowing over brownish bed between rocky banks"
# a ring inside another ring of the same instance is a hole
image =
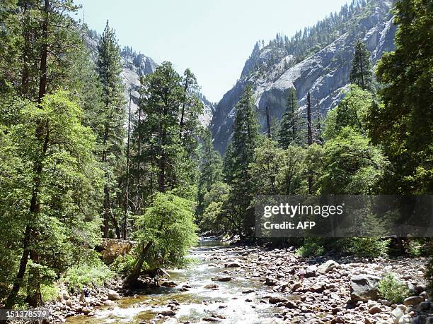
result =
[[[272,323],[278,308],[260,303],[265,290],[257,277],[250,277],[243,268],[231,268],[230,275],[233,280],[211,280],[216,275],[226,274],[227,269],[221,266],[225,261],[212,257],[221,256],[221,253],[224,257],[227,257],[227,253],[232,253],[233,259],[236,259],[239,252],[219,241],[201,241],[200,246],[191,251],[190,257],[194,260],[192,265],[185,269],[168,271],[170,280],[178,286],[161,287],[138,296],[125,297],[120,299],[115,307],[96,310],[93,317],[76,316],[68,318],[67,323],[144,323],[158,315],[158,312],[168,310],[168,304],[173,300],[178,301],[180,306],[169,323],[186,320],[190,323],[207,323],[203,318],[211,316],[221,317],[219,323]],[[204,288],[212,283],[217,283],[219,289]],[[182,292],[180,287],[183,284],[188,284],[191,288]],[[242,293],[248,289],[255,292]]]

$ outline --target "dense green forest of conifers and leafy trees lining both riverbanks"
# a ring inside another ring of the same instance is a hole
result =
[[[314,52],[359,10],[344,8],[272,42],[287,53]],[[247,86],[224,156],[198,119],[192,71],[163,62],[142,76],[139,109],[129,103],[128,111],[115,32],[107,22],[93,59],[92,31],[71,18],[78,9],[72,0],[0,4],[0,308],[43,306],[59,287],[79,294],[115,280],[135,289],[146,273],[187,267],[199,236],[291,247],[299,258],[432,256],[430,238],[254,232],[258,195],[433,194],[431,0],[396,1],[396,49],[376,66],[366,44],[354,44],[351,85],[325,116],[309,93],[299,109],[292,88],[281,121],[268,119],[262,133]],[[134,248],[107,265],[98,249],[104,239]],[[392,275],[388,283],[388,291],[400,287]]]

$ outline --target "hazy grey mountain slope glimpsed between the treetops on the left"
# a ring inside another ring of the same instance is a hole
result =
[[[91,49],[91,56],[94,61],[98,57],[98,42],[100,35],[94,30],[88,30],[86,35],[86,44]],[[122,49],[122,80],[125,84],[125,99],[127,100],[126,109],[129,109],[129,90],[131,91],[131,112],[134,113],[138,109],[139,104],[139,89],[140,78],[146,74],[153,73],[156,70],[158,64],[153,59],[142,53],[134,51],[131,47],[124,47]],[[214,112],[214,104],[209,102],[202,93],[197,93],[199,100],[203,104],[203,114],[200,115],[200,122],[207,126],[212,120],[212,114]]]

